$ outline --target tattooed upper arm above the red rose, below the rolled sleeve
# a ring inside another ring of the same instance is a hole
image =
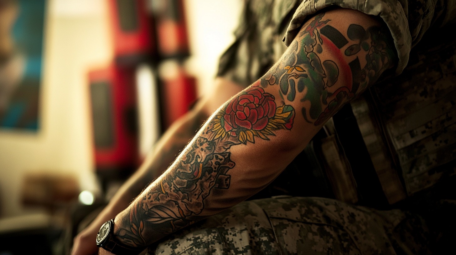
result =
[[[294,106],[306,122],[320,126],[395,63],[382,21],[335,9],[309,19],[259,83]]]

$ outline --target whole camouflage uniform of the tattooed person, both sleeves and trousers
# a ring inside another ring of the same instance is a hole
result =
[[[329,181],[305,183],[311,179],[308,177],[324,179],[328,172],[302,175],[304,163],[298,161],[289,166],[291,171],[297,169],[292,173],[295,178],[283,178],[286,183],[277,190],[298,187],[298,191],[285,194],[328,198],[280,196],[246,201],[166,237],[150,247],[150,254],[430,254],[431,249],[445,249],[435,242],[436,233],[441,233],[435,226],[446,225],[454,232],[456,193],[454,188],[450,192],[446,189],[454,187],[454,179],[446,179],[449,184],[437,189],[440,192],[422,190],[455,172],[456,37],[447,29],[454,24],[456,1],[247,0],[234,32],[236,41],[221,57],[218,76],[249,86],[280,58],[312,14],[332,5],[380,16],[391,31],[399,56],[395,69],[399,76],[384,77],[365,93],[368,97],[348,106],[372,165],[370,170],[363,163],[358,167],[372,171],[373,181],[355,176],[353,196],[343,197],[348,191],[337,195],[334,187],[340,186]],[[431,30],[439,33],[428,35]],[[425,41],[427,38],[431,40]],[[436,41],[431,50],[430,41]],[[418,121],[416,115],[420,116]],[[343,133],[337,124],[341,118],[334,117],[327,130]],[[350,148],[340,148],[343,140],[321,140],[314,139],[297,158],[307,157],[306,166],[322,168],[318,162],[325,160],[324,156],[309,156],[313,144],[336,144],[341,160],[350,162],[348,168],[356,175],[358,161],[344,153]],[[290,179],[300,182],[293,184]],[[364,189],[363,184],[374,188]],[[311,189],[306,190],[307,186]],[[373,189],[381,194],[373,196]],[[321,192],[316,194],[316,190]],[[263,196],[271,194],[275,193]],[[442,198],[446,199],[439,200]],[[360,206],[382,204],[382,199],[388,210]]]

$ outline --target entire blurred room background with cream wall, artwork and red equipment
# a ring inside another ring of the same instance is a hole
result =
[[[241,1],[0,0],[2,240],[109,197],[211,88]]]

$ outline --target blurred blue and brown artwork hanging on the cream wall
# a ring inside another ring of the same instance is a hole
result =
[[[0,2],[0,128],[37,131],[46,0]]]

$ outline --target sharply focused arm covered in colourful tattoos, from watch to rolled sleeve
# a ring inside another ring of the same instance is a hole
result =
[[[115,217],[124,244],[146,246],[269,184],[342,105],[395,62],[375,18],[311,18],[263,77],[208,119],[174,163]]]

